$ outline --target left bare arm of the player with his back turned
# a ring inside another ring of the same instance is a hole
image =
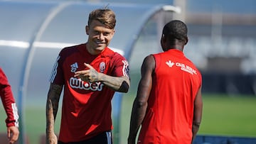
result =
[[[147,56],[142,64],[142,79],[140,79],[137,97],[132,107],[132,116],[129,128],[128,143],[136,143],[139,127],[146,114],[147,101],[152,87],[152,74],[154,72],[155,60],[152,55]]]

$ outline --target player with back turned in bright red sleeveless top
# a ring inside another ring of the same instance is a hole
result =
[[[134,100],[128,143],[191,144],[201,123],[202,78],[183,54],[188,43],[182,21],[166,23],[161,36],[164,52],[148,55]]]

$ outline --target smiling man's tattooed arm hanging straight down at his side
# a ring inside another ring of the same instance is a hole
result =
[[[60,94],[63,89],[62,85],[50,84],[48,97],[46,101],[46,143],[57,144],[58,139],[54,133],[54,122],[58,112],[58,103]]]

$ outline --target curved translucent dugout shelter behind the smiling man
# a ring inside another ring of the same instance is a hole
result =
[[[135,50],[134,43],[137,42],[143,28],[154,27],[155,31],[148,31],[145,35],[156,35],[160,38],[163,23],[169,21],[174,13],[180,12],[178,7],[164,4],[0,1],[0,67],[9,78],[18,105],[18,143],[26,143],[26,131],[32,125],[26,122],[31,118],[26,113],[26,108],[39,107],[45,111],[50,84],[48,79],[58,52],[66,46],[85,43],[88,14],[93,9],[104,8],[107,5],[117,16],[116,33],[110,47],[124,55],[127,60],[130,60],[131,53]],[[136,51],[144,50],[146,48]],[[61,101],[62,99],[60,104]],[[116,141],[119,138],[121,101],[122,94],[115,93],[112,101],[112,118]],[[59,107],[58,115],[60,111]],[[43,121],[38,125],[45,128],[45,113],[34,118],[35,121]],[[44,131],[43,129],[43,133]],[[58,130],[55,129],[55,133],[58,133]]]

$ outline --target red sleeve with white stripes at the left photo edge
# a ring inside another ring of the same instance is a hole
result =
[[[18,109],[6,74],[0,68],[0,96],[6,111],[6,126],[18,126]]]

